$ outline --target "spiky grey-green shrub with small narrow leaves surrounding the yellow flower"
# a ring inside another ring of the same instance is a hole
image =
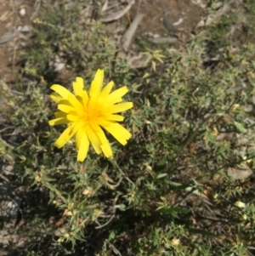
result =
[[[64,28],[58,19],[37,20],[19,94],[3,88],[10,106],[6,123],[15,133],[3,138],[14,146],[1,150],[25,184],[49,195],[48,207],[58,209],[58,241],[66,247],[86,240],[82,252],[88,255],[248,255],[255,238],[254,188],[246,178],[254,161],[254,118],[248,111],[255,92],[254,44],[234,48],[224,42],[213,48],[218,60],[205,61],[216,36],[209,33],[210,42],[201,34],[185,51],[146,53],[154,56],[155,71],[131,71],[116,58],[116,44],[103,26],[92,21],[81,31],[65,15]],[[67,79],[48,68],[55,38],[71,73]],[[48,126],[56,107],[48,87],[69,88],[77,74],[88,85],[98,68],[105,70],[105,84],[112,80],[116,88],[129,89],[126,100],[133,109],[124,126],[132,139],[123,147],[109,136],[112,159],[88,151],[77,162],[73,142],[54,147],[63,128]],[[27,208],[37,213],[29,199]],[[49,213],[37,214],[51,236],[56,227],[45,224]],[[33,219],[26,211],[25,216]],[[35,229],[32,222],[29,228]],[[54,251],[57,246],[48,243]]]

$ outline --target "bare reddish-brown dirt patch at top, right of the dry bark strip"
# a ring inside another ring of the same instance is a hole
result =
[[[144,14],[138,33],[146,32],[167,37],[171,34],[171,30],[167,30],[164,25],[164,14],[167,14],[167,21],[175,26],[178,36],[187,38],[201,20],[206,3],[205,0],[143,0],[136,1],[131,13]]]

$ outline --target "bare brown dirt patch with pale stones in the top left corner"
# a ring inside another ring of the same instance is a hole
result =
[[[19,71],[19,51],[28,43],[37,1],[0,0],[0,80],[14,81]]]

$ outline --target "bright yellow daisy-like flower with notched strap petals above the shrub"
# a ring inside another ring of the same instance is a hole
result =
[[[124,117],[116,115],[118,112],[127,111],[133,107],[132,102],[122,102],[122,96],[127,94],[127,87],[116,89],[111,93],[114,83],[109,82],[102,88],[104,71],[98,70],[94,81],[91,83],[89,93],[84,88],[82,77],[77,77],[72,83],[74,94],[59,84],[54,84],[51,89],[55,93],[50,97],[58,103],[58,112],[55,119],[50,120],[49,125],[68,124],[68,128],[56,140],[55,146],[61,148],[71,137],[75,136],[78,155],[77,161],[84,161],[88,154],[88,146],[91,143],[94,150],[106,157],[112,156],[111,145],[105,137],[104,128],[122,145],[127,144],[131,134],[118,122]]]

